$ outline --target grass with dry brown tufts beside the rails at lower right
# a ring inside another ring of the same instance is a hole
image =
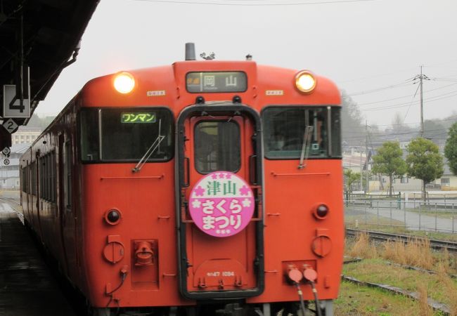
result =
[[[363,260],[346,264],[344,275],[416,292],[421,298],[414,301],[383,289],[342,281],[335,315],[443,315],[427,305],[427,297],[446,304],[450,315],[457,315],[457,280],[448,275],[457,271],[456,254],[432,251],[426,242],[374,243],[363,234],[355,240],[347,239],[345,253]],[[390,262],[435,270],[437,274],[408,270]]]

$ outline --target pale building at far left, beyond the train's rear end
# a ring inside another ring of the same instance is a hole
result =
[[[5,165],[4,154],[0,153],[0,189],[18,190],[19,189],[19,159],[20,156],[30,147],[30,143],[16,144],[11,146],[11,153],[8,157],[9,164]]]

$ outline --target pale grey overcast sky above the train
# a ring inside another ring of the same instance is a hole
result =
[[[188,2],[188,4],[185,4]],[[57,114],[89,79],[198,55],[307,69],[335,81],[381,128],[398,112],[420,121],[457,112],[456,0],[101,0],[75,64],[60,74],[39,116]]]

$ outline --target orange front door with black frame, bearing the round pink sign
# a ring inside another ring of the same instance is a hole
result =
[[[192,105],[179,115],[177,129],[181,294],[259,295],[264,287],[259,115],[233,103]]]

